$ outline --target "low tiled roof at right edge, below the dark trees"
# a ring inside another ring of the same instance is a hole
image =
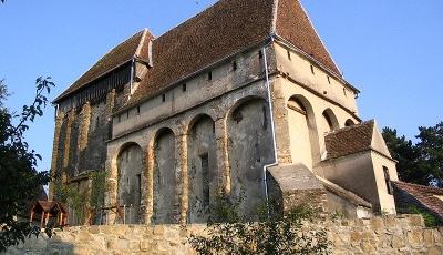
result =
[[[394,186],[420,202],[424,207],[443,218],[443,188],[404,182],[392,182]]]

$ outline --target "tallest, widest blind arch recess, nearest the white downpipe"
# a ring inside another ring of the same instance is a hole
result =
[[[227,115],[230,194],[241,197],[241,214],[257,215],[265,201],[264,166],[274,162],[269,105],[248,96],[239,100]]]

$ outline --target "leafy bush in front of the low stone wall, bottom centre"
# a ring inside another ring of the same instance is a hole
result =
[[[329,254],[330,242],[324,228],[303,230],[315,218],[307,206],[298,206],[282,216],[243,222],[238,200],[222,194],[212,210],[208,235],[189,238],[198,254]],[[224,218],[225,217],[225,218]]]

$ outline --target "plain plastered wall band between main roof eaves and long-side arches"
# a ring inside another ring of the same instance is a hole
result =
[[[262,71],[258,51],[259,49],[256,49],[238,54],[218,67],[202,71],[198,75],[175,84],[174,88],[159,91],[156,96],[140,105],[140,112],[137,108],[133,108],[114,116],[113,137],[177,114],[248,84],[257,79]],[[236,62],[235,70],[234,61]],[[212,80],[209,80],[209,72]]]

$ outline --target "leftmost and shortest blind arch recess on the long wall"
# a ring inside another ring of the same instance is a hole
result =
[[[143,150],[135,142],[123,144],[117,153],[117,205],[121,207],[124,222],[140,223],[142,202]],[[119,218],[123,222],[123,218]]]

